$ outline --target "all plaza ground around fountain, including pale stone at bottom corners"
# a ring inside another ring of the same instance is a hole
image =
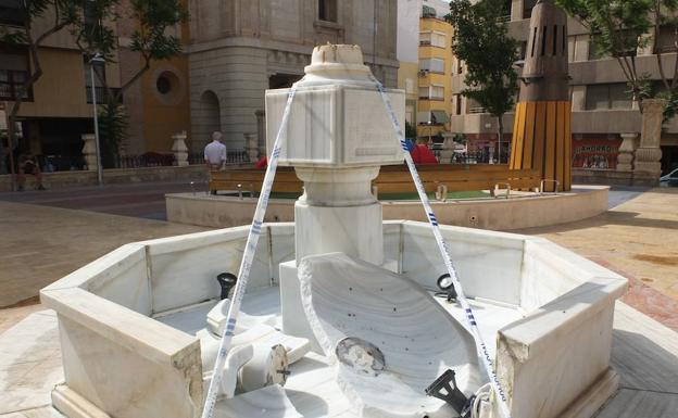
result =
[[[180,187],[0,194],[0,305],[16,305],[0,309],[0,418],[63,418],[50,400],[64,379],[56,318],[35,295],[123,243],[203,230],[148,219],[162,218],[164,189]],[[522,232],[629,277],[625,302],[678,330],[678,189],[624,191],[613,194],[611,206],[591,219]],[[598,418],[676,418],[675,332],[618,303],[612,363],[620,387]]]

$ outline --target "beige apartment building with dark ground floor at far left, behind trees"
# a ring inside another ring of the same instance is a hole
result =
[[[0,2],[0,25],[10,30],[23,25],[18,2]],[[38,20],[34,37],[49,28],[51,20],[49,14]],[[67,30],[48,37],[38,55],[43,74],[23,98],[14,152],[50,155],[58,169],[78,168],[83,164],[80,136],[93,128],[89,64]],[[33,65],[27,48],[0,45],[0,101],[7,102],[8,112]],[[109,64],[104,76],[112,87],[120,87],[118,63]],[[3,142],[7,157],[8,143]]]

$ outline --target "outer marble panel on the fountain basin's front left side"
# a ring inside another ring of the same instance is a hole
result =
[[[121,418],[198,417],[200,351],[158,363],[66,317],[60,317],[66,384],[101,411]],[[191,376],[192,375],[192,376]]]

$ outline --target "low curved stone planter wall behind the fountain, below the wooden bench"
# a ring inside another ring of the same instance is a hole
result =
[[[576,186],[573,192],[431,202],[440,224],[491,230],[515,230],[586,219],[607,211],[605,186]],[[206,227],[249,225],[256,199],[213,197],[206,193],[176,193],[165,197],[167,219]],[[381,202],[384,219],[426,221],[418,201]],[[294,220],[294,200],[272,199],[265,221]]]

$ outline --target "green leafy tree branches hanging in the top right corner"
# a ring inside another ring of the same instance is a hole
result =
[[[675,68],[666,73],[665,53],[678,52],[678,0],[556,0],[570,16],[591,34],[591,46],[599,55],[617,61],[629,85],[631,96],[640,103],[646,98],[664,98],[665,117],[673,117],[678,106],[678,54]],[[648,36],[652,34],[653,36]],[[657,88],[646,73],[639,73],[637,51],[654,45],[656,68],[663,88]]]

